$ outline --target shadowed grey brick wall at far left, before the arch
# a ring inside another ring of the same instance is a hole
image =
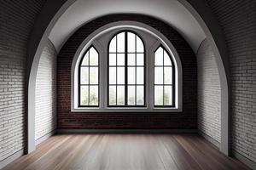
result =
[[[0,0],[0,161],[24,149],[27,42],[44,0]]]

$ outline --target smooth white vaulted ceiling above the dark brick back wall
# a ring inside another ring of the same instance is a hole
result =
[[[196,52],[206,38],[201,26],[178,0],[77,0],[57,20],[49,39],[57,51],[74,31],[107,14],[146,14],[176,29]]]

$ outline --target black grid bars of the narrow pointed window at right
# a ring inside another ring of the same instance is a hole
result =
[[[155,56],[155,53],[156,53],[156,51],[157,50],[159,50],[159,48],[162,48],[162,58],[163,58],[163,65],[155,65],[155,58],[156,58],[156,56]],[[173,62],[172,62],[172,59],[171,59],[171,57],[170,57],[170,54],[168,54],[167,53],[167,51],[166,51],[166,49],[163,47],[163,46],[161,46],[160,45],[160,47],[159,48],[157,48],[155,51],[154,51],[154,107],[173,107],[174,106],[174,104],[175,104],[175,95],[174,95],[174,93],[175,93],[175,86],[173,85],[173,84],[175,84],[175,72],[174,72],[174,69],[173,69]],[[169,59],[171,60],[171,63],[172,63],[172,65],[165,65],[165,52],[166,52],[166,54],[168,54],[168,57],[169,57]],[[163,78],[163,81],[162,81],[162,83],[155,83],[155,68],[162,68],[162,70],[163,70],[163,74],[162,74],[162,78]],[[166,83],[166,81],[165,81],[165,68],[172,68],[172,74],[171,74],[171,76],[172,76],[172,83]],[[172,105],[166,105],[165,104],[165,89],[166,89],[166,87],[172,87]],[[162,87],[163,89],[162,89],[162,98],[163,98],[163,100],[162,100],[162,103],[163,103],[163,105],[156,105],[155,104],[155,87]]]

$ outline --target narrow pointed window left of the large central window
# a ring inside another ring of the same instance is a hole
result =
[[[93,46],[79,65],[79,106],[99,106],[99,54]]]

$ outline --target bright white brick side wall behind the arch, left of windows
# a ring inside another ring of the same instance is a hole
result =
[[[56,127],[56,59],[55,47],[49,40],[39,60],[36,79],[36,140]]]

